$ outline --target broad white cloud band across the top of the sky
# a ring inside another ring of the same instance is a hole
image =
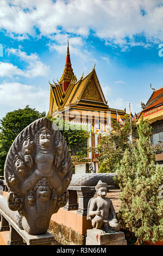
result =
[[[19,34],[20,40],[36,36],[35,28],[45,36],[61,31],[88,36],[94,31],[106,44],[111,41],[127,50],[163,40],[162,17],[160,0],[1,0],[0,28]],[[146,43],[135,35],[145,36]]]

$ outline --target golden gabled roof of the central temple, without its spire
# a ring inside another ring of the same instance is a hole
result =
[[[55,103],[56,109],[60,111],[71,105],[79,105],[79,103],[85,103],[86,105],[98,103],[103,105],[105,108],[108,108],[95,68],[93,68],[84,77],[82,75],[78,81],[72,80],[66,92],[64,92],[62,83],[59,81],[58,83],[54,82],[54,84],[50,83],[50,85],[51,94],[54,98],[53,105]],[[51,109],[52,108],[53,107],[51,106]],[[50,112],[51,113],[49,114],[52,114],[52,110]]]

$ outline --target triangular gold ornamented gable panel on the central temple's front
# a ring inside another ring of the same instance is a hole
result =
[[[86,89],[84,90],[84,93],[82,95],[82,99],[85,100],[95,100],[95,101],[101,101],[101,96],[99,95],[98,89],[96,87],[95,82],[91,79],[89,83],[87,84]]]

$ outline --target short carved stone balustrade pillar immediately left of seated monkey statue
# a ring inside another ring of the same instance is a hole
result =
[[[95,187],[79,187],[78,191],[79,208],[77,214],[87,215],[87,205],[95,194]]]

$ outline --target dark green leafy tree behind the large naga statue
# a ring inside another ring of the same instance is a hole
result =
[[[5,159],[16,136],[30,123],[45,116],[45,112],[40,113],[28,105],[23,109],[8,112],[0,120],[0,175],[3,175]]]

